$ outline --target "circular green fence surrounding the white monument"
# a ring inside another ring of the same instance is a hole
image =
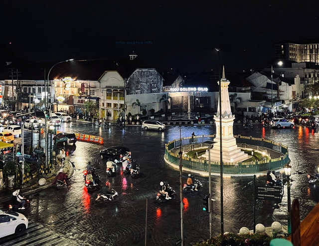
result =
[[[236,143],[238,144],[245,144],[246,146],[250,147],[257,147],[260,150],[270,149],[281,153],[279,158],[274,159],[266,159],[262,161],[255,161],[255,162],[238,162],[238,163],[231,163],[231,162],[223,162],[223,171],[224,174],[255,174],[265,172],[267,170],[276,170],[283,168],[289,160],[289,152],[288,147],[282,145],[281,143],[276,143],[271,140],[267,140],[264,138],[253,138],[253,137],[246,137],[246,136],[235,136]],[[170,164],[179,166],[179,156],[178,151],[173,153],[171,150],[173,149],[182,149],[183,152],[190,150],[192,146],[202,145],[203,142],[207,140],[214,140],[214,135],[201,135],[201,136],[192,136],[192,137],[185,137],[181,139],[174,139],[167,144],[165,144],[165,158]],[[200,159],[193,159],[187,156],[182,156],[182,166],[184,168],[197,170],[197,171],[204,171],[208,172],[208,160],[200,160]],[[211,164],[211,172],[220,173],[220,162],[210,161]]]

